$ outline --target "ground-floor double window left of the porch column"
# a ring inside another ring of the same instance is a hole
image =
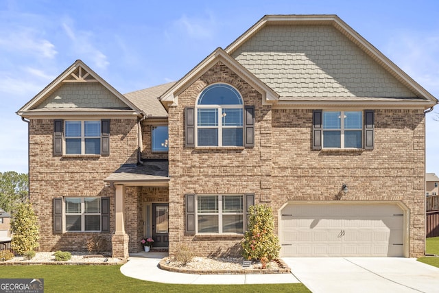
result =
[[[65,198],[65,231],[101,231],[101,198]]]

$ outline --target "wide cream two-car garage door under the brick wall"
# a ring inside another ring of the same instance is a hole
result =
[[[288,204],[281,256],[403,257],[403,222],[396,204]]]

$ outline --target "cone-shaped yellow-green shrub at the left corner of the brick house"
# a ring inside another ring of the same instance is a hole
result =
[[[21,203],[12,216],[12,249],[23,255],[26,251],[38,248],[40,239],[40,229],[32,204]]]

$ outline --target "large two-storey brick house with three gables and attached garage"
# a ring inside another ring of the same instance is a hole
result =
[[[78,60],[19,111],[42,250],[236,255],[251,204],[281,256],[420,257],[437,99],[333,15],[264,16],[178,82],[122,95]]]

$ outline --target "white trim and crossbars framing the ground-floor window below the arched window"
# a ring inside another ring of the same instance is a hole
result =
[[[218,233],[199,233],[198,232],[198,197],[202,196],[218,196],[218,213],[200,213],[200,215],[218,215]],[[223,196],[242,196],[242,212],[241,213],[223,213],[222,197]],[[198,235],[244,235],[246,228],[246,196],[244,194],[197,194],[195,196],[195,233]],[[222,232],[222,215],[242,215],[242,233],[223,233]]]

